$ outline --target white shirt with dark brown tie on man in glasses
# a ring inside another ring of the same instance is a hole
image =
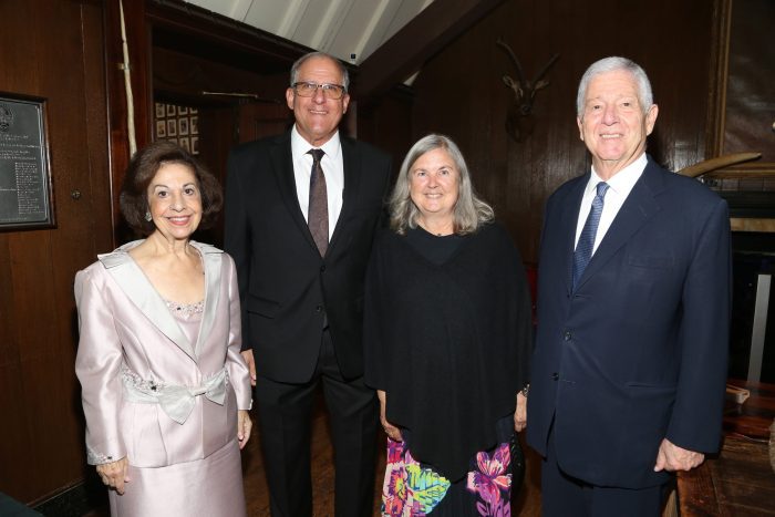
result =
[[[309,221],[310,205],[310,176],[312,175],[312,155],[309,151],[321,148],[326,153],[320,161],[326,176],[326,193],[329,205],[329,240],[337,227],[339,214],[342,211],[342,192],[344,190],[344,158],[342,157],[342,143],[339,139],[339,132],[322,146],[313,147],[293,124],[291,131],[291,156],[293,158],[293,177],[296,178],[296,194],[299,196],[299,207]]]

